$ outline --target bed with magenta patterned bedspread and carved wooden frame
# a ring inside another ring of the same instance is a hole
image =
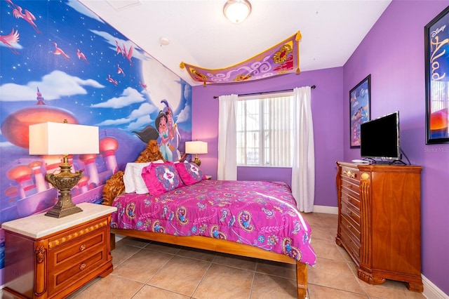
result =
[[[152,162],[142,171],[148,185],[155,176],[153,169],[160,168],[156,161],[161,160],[156,141],[150,140],[135,161],[139,165]],[[184,165],[188,168],[189,163]],[[169,191],[151,189],[154,195],[150,195],[125,192],[124,174],[114,173],[103,189],[103,204],[117,207],[111,221],[112,246],[114,234],[120,234],[295,264],[297,297],[306,298],[307,265],[315,265],[316,255],[310,245],[310,227],[297,211],[288,185],[200,179]]]

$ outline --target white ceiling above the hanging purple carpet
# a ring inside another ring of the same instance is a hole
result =
[[[180,62],[219,69],[235,65],[297,31],[302,72],[341,67],[391,0],[250,0],[239,25],[222,13],[226,0],[79,0],[192,86]],[[161,37],[170,44],[160,44]]]

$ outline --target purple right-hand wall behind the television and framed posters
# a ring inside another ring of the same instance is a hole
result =
[[[422,274],[449,294],[449,145],[425,144],[424,26],[448,1],[391,2],[344,65],[344,95],[371,74],[371,117],[400,111],[401,147],[422,171]],[[344,119],[349,104],[344,104]],[[344,159],[351,150],[344,122]]]

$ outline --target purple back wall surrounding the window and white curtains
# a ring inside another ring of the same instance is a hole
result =
[[[217,178],[218,99],[214,99],[214,95],[279,91],[316,85],[311,91],[315,136],[315,205],[337,206],[335,161],[343,158],[342,78],[343,69],[338,67],[301,74],[286,74],[248,83],[194,86],[192,138],[208,142],[208,154],[200,157],[201,170]],[[290,184],[291,171],[290,168],[239,167],[238,178],[276,179]]]

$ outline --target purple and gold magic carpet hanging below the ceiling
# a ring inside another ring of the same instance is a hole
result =
[[[253,58],[223,69],[206,69],[185,62],[181,62],[180,67],[185,68],[194,81],[203,82],[204,86],[208,83],[252,81],[293,72],[299,74],[301,37],[298,31]]]

